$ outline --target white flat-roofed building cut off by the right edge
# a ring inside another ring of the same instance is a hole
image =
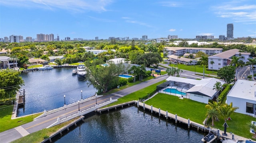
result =
[[[255,116],[256,81],[238,79],[227,95],[226,103],[238,107],[237,113]]]

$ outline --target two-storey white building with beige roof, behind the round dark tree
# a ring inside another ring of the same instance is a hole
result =
[[[240,55],[244,57],[243,59],[240,58],[240,60],[246,63],[248,61],[250,53],[239,52],[239,49],[231,49],[222,53],[218,53],[216,55],[209,56],[208,69],[219,70],[220,68],[229,65],[232,61],[233,56],[240,57]],[[213,61],[214,64],[210,64],[211,61]]]

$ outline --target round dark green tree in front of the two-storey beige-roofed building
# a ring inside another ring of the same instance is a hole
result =
[[[217,72],[217,76],[225,81],[226,84],[230,84],[235,78],[235,67],[225,66],[220,68]]]

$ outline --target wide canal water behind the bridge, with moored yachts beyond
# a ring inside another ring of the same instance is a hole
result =
[[[88,81],[80,80],[77,75],[72,75],[74,68],[56,68],[50,72],[22,73],[21,77],[25,85],[26,102],[24,108],[19,108],[17,115],[24,116],[44,110],[52,110],[71,104],[81,99],[93,96],[96,89],[88,88]]]

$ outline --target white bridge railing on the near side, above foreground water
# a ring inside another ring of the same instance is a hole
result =
[[[113,102],[115,102],[115,101],[117,101],[117,99],[112,100],[112,98],[110,98],[109,101],[103,102],[103,103],[101,103],[101,104],[96,104],[95,106],[93,106],[93,107],[91,107],[91,108],[88,108],[88,109],[83,110],[83,111],[79,111],[79,112],[77,112],[77,113],[75,113],[75,114],[72,114],[72,115],[70,115],[70,116],[67,116],[67,117],[65,117],[65,118],[62,118],[62,119],[57,118],[57,121],[56,121],[55,123],[53,123],[52,125],[50,125],[49,127],[47,127],[47,128],[53,127],[54,125],[59,125],[60,123],[63,123],[63,122],[68,121],[68,120],[70,120],[70,119],[74,119],[74,118],[76,118],[76,117],[78,117],[78,116],[81,116],[81,115],[84,115],[84,114],[93,112],[93,111],[95,111],[97,108],[101,108],[101,107],[106,106],[106,105],[108,105],[108,104],[110,104],[110,103],[113,103]]]

